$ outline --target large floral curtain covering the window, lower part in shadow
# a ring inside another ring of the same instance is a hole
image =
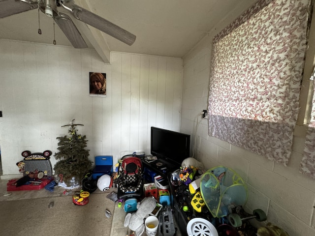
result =
[[[287,164],[309,7],[310,0],[259,0],[214,38],[209,135]]]

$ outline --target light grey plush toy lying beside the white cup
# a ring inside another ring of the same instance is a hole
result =
[[[129,227],[130,230],[134,231],[136,236],[143,234],[144,218],[146,218],[157,206],[157,201],[154,197],[144,198],[138,203],[137,211],[135,213],[127,213],[125,217],[124,226]]]

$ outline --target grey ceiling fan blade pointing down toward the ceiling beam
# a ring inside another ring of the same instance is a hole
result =
[[[87,48],[88,45],[84,41],[81,33],[74,25],[73,21],[66,14],[59,12],[58,16],[54,17],[55,22],[69,39],[74,48]]]

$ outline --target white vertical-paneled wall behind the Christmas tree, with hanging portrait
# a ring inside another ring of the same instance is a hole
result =
[[[89,72],[106,73],[107,96],[89,96]],[[70,119],[87,136],[90,159],[150,152],[150,127],[179,131],[182,59],[0,40],[3,176],[19,174],[21,152],[57,151]],[[52,165],[56,160],[51,157]]]

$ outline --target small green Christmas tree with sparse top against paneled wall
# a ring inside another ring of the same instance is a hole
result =
[[[54,167],[55,175],[62,177],[60,181],[67,186],[71,185],[73,177],[76,184],[81,183],[83,177],[92,168],[92,161],[88,158],[90,150],[86,149],[88,140],[85,135],[77,134],[75,129],[77,125],[83,124],[74,124],[73,121],[74,119],[70,121],[70,124],[62,126],[70,126],[68,133],[71,136],[57,137],[59,152],[55,153],[56,160],[59,160]]]

